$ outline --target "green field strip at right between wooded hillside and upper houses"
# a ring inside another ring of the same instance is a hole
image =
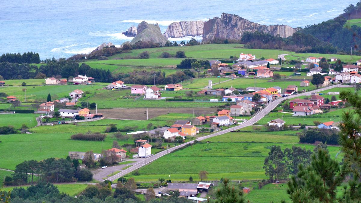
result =
[[[286,60],[305,60],[310,57],[325,57],[325,59],[329,59],[330,57],[336,57],[340,59],[342,62],[353,63],[357,60],[361,59],[361,56],[351,56],[350,55],[340,55],[340,54],[326,54],[326,53],[292,53],[291,55],[284,56]]]

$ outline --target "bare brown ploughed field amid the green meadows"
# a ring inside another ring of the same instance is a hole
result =
[[[148,108],[148,119],[167,113],[192,113],[194,116],[213,114],[217,108]],[[99,109],[106,118],[119,118],[124,120],[147,120],[147,108],[118,108],[118,109]]]

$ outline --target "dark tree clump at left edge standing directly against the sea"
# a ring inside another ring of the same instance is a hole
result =
[[[28,64],[38,64],[40,63],[39,53],[27,52],[27,53],[3,53],[0,56],[0,62],[9,62],[9,63],[28,63]]]

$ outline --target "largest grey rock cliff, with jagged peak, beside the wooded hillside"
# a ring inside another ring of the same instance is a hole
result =
[[[240,40],[245,32],[260,31],[283,38],[291,36],[297,30],[288,25],[265,26],[251,22],[234,14],[222,13],[221,17],[214,17],[204,23],[203,41],[220,39]]]

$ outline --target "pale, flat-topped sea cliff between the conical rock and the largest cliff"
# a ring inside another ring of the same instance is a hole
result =
[[[173,22],[164,33],[166,38],[203,35],[204,21]]]

